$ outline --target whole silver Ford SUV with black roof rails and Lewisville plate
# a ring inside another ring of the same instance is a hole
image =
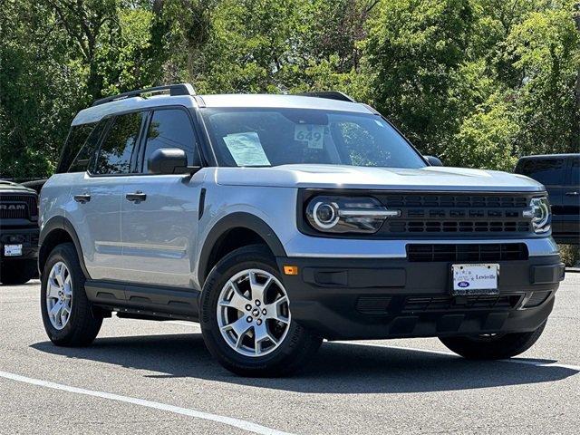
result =
[[[94,102],[42,190],[46,333],[86,345],[113,312],[199,322],[253,376],[304,366],[323,338],[522,353],[564,275],[546,190],[438,163],[339,92]]]

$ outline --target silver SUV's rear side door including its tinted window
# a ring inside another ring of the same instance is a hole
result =
[[[134,173],[144,117],[143,113],[132,112],[111,118],[99,150],[89,157],[88,170],[72,189],[73,226],[92,279],[119,280],[123,276],[121,198],[125,179]],[[80,153],[72,168],[84,164],[86,159],[82,157]]]

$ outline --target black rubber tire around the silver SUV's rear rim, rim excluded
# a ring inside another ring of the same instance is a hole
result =
[[[69,270],[69,274],[71,275],[72,285],[71,288],[73,290],[73,302],[72,302],[72,309],[71,309],[71,316],[69,317],[69,321],[63,327],[63,329],[58,330],[56,329],[53,324],[51,323],[49,316],[48,316],[48,307],[46,306],[46,292],[48,289],[48,277],[53,266],[62,261],[64,265]],[[85,277],[82,274],[81,266],[79,265],[78,258],[76,253],[73,251],[72,247],[68,245],[61,245],[59,247],[54,248],[53,252],[49,256],[48,260],[43,269],[43,274],[41,276],[41,292],[40,292],[40,305],[41,305],[41,313],[43,315],[43,324],[46,333],[48,334],[49,338],[52,341],[60,342],[67,340],[67,338],[71,337],[76,329],[76,323],[79,319],[79,310],[82,307],[79,299],[84,296],[84,281]],[[86,296],[85,296],[86,297]]]

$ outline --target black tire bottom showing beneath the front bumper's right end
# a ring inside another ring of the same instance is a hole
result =
[[[540,338],[546,322],[531,333],[506,333],[499,336],[440,337],[450,351],[469,360],[504,360],[524,353]]]

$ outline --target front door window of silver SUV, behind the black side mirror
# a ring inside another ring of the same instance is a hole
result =
[[[145,162],[143,171],[148,172],[147,160],[155,150],[160,148],[179,148],[188,156],[189,165],[198,165],[196,140],[191,121],[185,111],[155,111],[147,133]]]

